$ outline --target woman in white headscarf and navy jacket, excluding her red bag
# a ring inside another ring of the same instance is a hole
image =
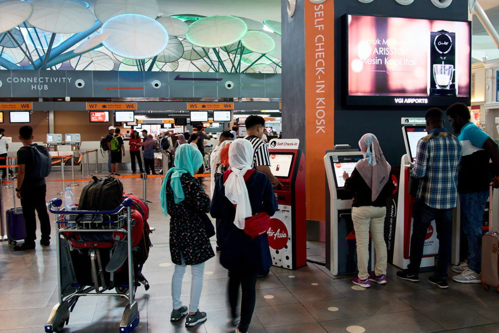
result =
[[[229,147],[230,169],[215,185],[210,213],[220,219],[218,238],[222,246],[220,263],[230,272],[229,304],[233,325],[238,323],[239,286],[242,290],[241,321],[236,332],[246,333],[255,304],[255,284],[259,272],[272,266],[267,234],[251,238],[245,232],[246,219],[277,210],[272,184],[267,175],[253,164],[253,146],[245,139],[234,140]]]

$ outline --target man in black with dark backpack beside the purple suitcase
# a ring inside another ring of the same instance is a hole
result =
[[[48,150],[33,143],[31,126],[19,128],[19,139],[23,146],[17,150],[17,198],[21,199],[22,217],[26,226],[26,238],[21,245],[14,246],[14,251],[30,250],[35,247],[36,217],[40,220],[40,244],[50,245],[50,220],[45,203],[47,186],[45,177],[52,166]]]

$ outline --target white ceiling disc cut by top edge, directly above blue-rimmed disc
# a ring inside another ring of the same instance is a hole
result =
[[[158,12],[157,0],[97,0],[94,5],[95,16],[102,23],[121,14],[140,14],[156,18]]]

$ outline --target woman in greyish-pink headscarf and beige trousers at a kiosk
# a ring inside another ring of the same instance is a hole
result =
[[[387,251],[384,238],[386,198],[395,190],[390,177],[391,166],[374,134],[367,133],[359,141],[364,158],[357,162],[350,177],[343,173],[345,190],[353,193],[352,220],[357,241],[357,277],[355,285],[364,288],[370,281],[386,283]],[[371,274],[367,271],[369,260],[369,230],[376,252],[376,266]]]

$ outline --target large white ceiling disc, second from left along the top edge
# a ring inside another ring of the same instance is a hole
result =
[[[92,11],[74,0],[37,0],[31,5],[29,24],[45,31],[76,33],[90,29],[95,22]]]

